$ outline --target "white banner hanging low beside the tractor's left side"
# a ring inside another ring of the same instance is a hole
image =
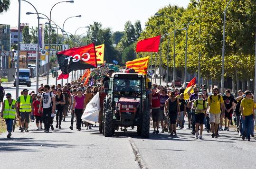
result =
[[[98,122],[100,112],[100,97],[99,92],[86,105],[82,120],[94,124]]]

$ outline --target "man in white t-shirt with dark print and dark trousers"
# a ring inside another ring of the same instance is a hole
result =
[[[48,133],[52,121],[51,115],[55,113],[56,104],[54,94],[50,92],[50,86],[45,85],[44,89],[46,92],[42,94],[39,110],[43,106],[42,121],[45,125],[45,132]]]

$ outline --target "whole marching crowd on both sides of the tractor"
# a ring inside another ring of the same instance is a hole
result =
[[[23,89],[17,99],[12,99],[11,94],[6,94],[3,101],[1,116],[5,119],[10,138],[13,119],[19,119],[20,132],[28,132],[30,121],[36,121],[36,129],[48,133],[54,126],[61,129],[61,123],[66,121],[68,113],[71,115],[69,129],[73,130],[76,118],[76,130],[81,131],[82,123],[85,129],[91,129],[93,124],[82,122],[81,116],[86,105],[100,92],[101,111],[103,100],[106,96],[108,80],[114,70],[106,65],[91,71],[90,80],[85,84],[85,79],[80,76],[78,80],[65,85],[57,86],[41,84],[37,92]],[[128,86],[129,88],[129,86]],[[189,91],[189,99],[184,97],[184,88],[163,87],[161,85],[146,85],[146,96],[149,100],[149,110],[152,117],[153,134],[168,132],[171,136],[177,135],[177,129],[184,128],[185,119],[191,134],[196,139],[203,139],[204,128],[212,133],[212,138],[218,138],[218,131],[229,131],[230,125],[236,125],[237,133],[243,140],[250,141],[254,137],[254,105],[253,94],[250,91],[239,90],[237,97],[230,90],[221,95],[218,88],[207,92],[203,85],[193,86]],[[4,90],[3,90],[4,92]],[[1,101],[1,100],[0,100]],[[187,117],[187,118],[185,118]],[[234,118],[234,124],[233,124]],[[224,119],[224,129],[223,129]],[[56,125],[53,122],[56,121]]]

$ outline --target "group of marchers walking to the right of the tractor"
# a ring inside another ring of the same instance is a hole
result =
[[[161,124],[161,133],[176,136],[177,128],[184,128],[184,117],[187,117],[188,128],[196,139],[203,139],[204,129],[212,133],[212,138],[218,138],[218,131],[229,131],[230,125],[236,125],[237,133],[243,140],[250,141],[250,137],[254,137],[255,102],[251,91],[239,90],[235,97],[229,89],[222,95],[218,88],[208,93],[204,85],[193,86],[188,91],[189,99],[185,100],[184,90],[157,84],[147,89],[154,134],[160,132]]]

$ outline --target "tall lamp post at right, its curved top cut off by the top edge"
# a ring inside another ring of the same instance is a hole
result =
[[[225,58],[225,26],[226,26],[226,13],[228,5],[232,0],[229,0],[224,10],[224,21],[223,21],[223,38],[222,38],[222,62],[221,62],[221,92],[224,93],[224,58]]]

